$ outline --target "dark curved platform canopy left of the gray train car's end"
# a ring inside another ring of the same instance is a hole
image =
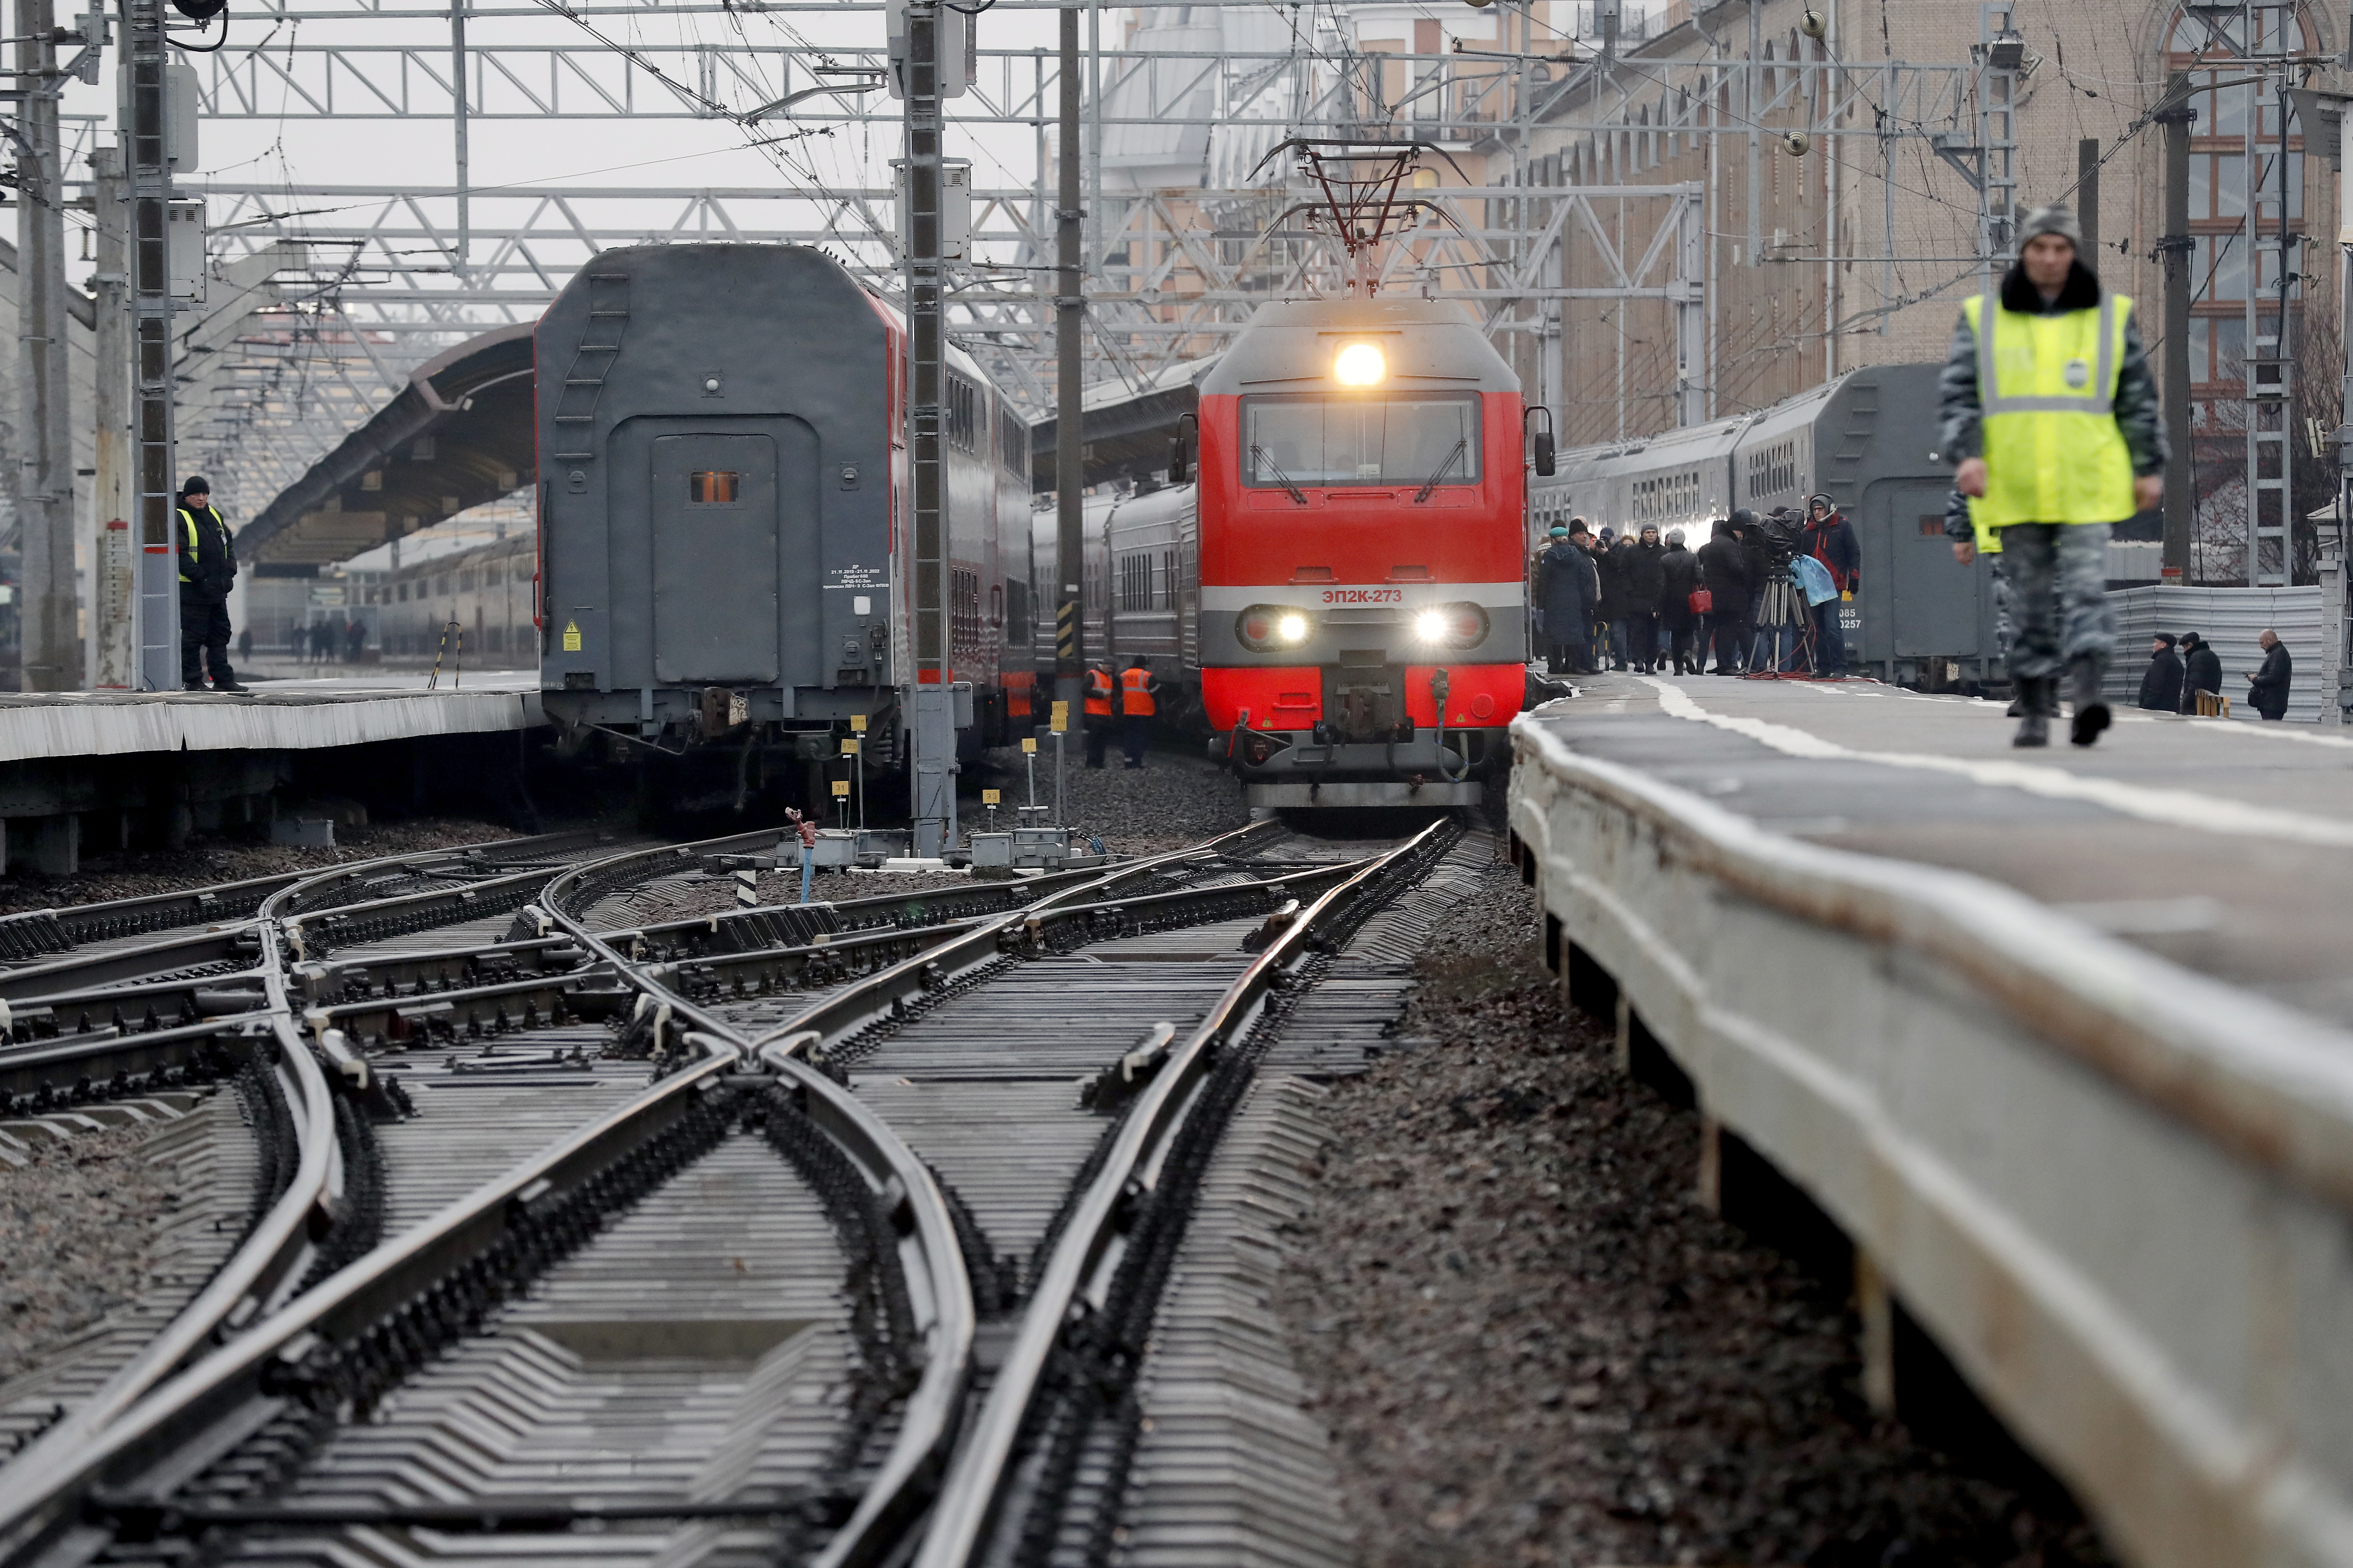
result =
[[[536,482],[532,322],[468,339],[238,529],[238,557],[306,574]]]

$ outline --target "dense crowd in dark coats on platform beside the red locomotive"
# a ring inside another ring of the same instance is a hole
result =
[[[1840,607],[1861,567],[1831,496],[1812,496],[1802,520],[1718,517],[1697,550],[1682,529],[1595,534],[1572,517],[1537,555],[1537,635],[1553,675],[1845,675]]]

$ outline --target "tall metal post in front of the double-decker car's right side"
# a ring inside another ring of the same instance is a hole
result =
[[[946,289],[941,261],[941,183],[946,115],[941,59],[946,7],[913,0],[906,9],[906,341],[908,456],[915,498],[915,684],[908,717],[915,788],[915,853],[955,849],[955,646],[948,625],[948,520],[941,463],[946,402]]]

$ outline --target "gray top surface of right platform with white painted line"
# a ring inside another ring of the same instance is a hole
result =
[[[1539,719],[1584,755],[1793,839],[2002,882],[2353,1023],[2353,731],[2118,710],[2099,745],[2021,752],[2000,703],[1875,682],[1602,675],[1584,691]]]

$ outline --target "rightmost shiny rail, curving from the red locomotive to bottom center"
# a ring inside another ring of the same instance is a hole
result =
[[[1071,1222],[1040,1269],[1012,1347],[988,1389],[988,1401],[974,1418],[969,1441],[958,1448],[948,1467],[913,1568],[967,1568],[986,1547],[998,1505],[1005,1500],[1007,1467],[1038,1396],[1047,1359],[1073,1314],[1080,1312],[1082,1291],[1094,1286],[1106,1272],[1106,1262],[1115,1262],[1115,1244],[1125,1234],[1125,1220],[1132,1218],[1134,1199],[1153,1192],[1165,1175],[1155,1168],[1158,1157],[1184,1128],[1202,1077],[1226,1048],[1249,1032],[1266,994],[1275,987],[1275,976],[1287,973],[1294,959],[1306,957],[1315,929],[1442,827],[1445,823],[1433,823],[1405,844],[1360,863],[1339,886],[1292,917],[1285,931],[1226,987],[1209,1016],[1193,1027],[1181,1046],[1167,1053],[1136,1095],[1094,1182],[1073,1204]]]

